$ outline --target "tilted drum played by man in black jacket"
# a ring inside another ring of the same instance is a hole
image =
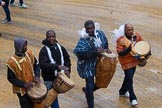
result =
[[[60,73],[60,76],[54,80],[53,88],[58,93],[65,93],[74,87],[74,82],[68,78],[64,73]]]

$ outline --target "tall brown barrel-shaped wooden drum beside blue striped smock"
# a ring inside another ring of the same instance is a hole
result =
[[[99,57],[96,66],[96,86],[99,88],[107,88],[115,70],[116,70],[116,55],[111,53],[102,53]]]

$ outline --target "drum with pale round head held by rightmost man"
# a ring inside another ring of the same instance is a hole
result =
[[[141,60],[139,60],[138,66],[143,67],[147,64],[147,59],[151,55],[151,47],[150,45],[145,41],[139,41],[135,44],[134,49],[141,57]]]

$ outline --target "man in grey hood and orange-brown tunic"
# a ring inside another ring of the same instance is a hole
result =
[[[7,62],[7,79],[13,85],[13,92],[17,94],[21,108],[33,108],[26,91],[33,87],[34,80],[39,81],[39,65],[32,51],[27,50],[27,40],[16,38],[14,47],[15,54]]]

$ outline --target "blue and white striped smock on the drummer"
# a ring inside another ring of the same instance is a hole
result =
[[[108,40],[105,34],[101,30],[96,30],[97,39],[100,40],[101,47],[108,48]],[[96,74],[96,62],[97,62],[97,45],[88,40],[89,38],[80,38],[73,53],[77,56],[77,71],[81,78],[88,78],[95,76]]]

